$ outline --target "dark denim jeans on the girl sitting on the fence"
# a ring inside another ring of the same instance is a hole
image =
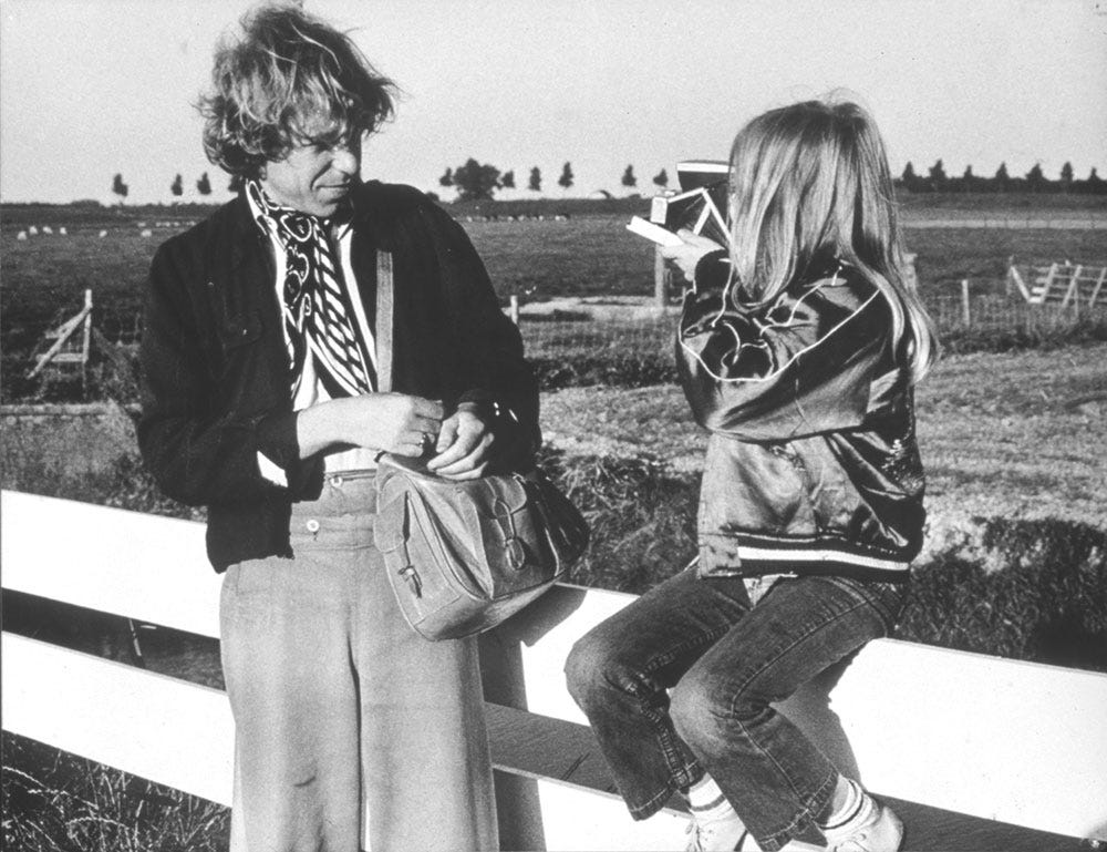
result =
[[[581,637],[569,691],[634,819],[706,771],[763,849],[808,832],[838,772],[772,702],[886,635],[904,593],[901,582],[786,577],[752,605],[741,577],[690,569]]]

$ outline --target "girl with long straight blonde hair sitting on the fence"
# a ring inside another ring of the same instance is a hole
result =
[[[662,249],[692,283],[699,557],[578,641],[569,689],[634,818],[687,798],[690,850],[893,852],[899,818],[774,709],[892,629],[922,540],[912,388],[938,347],[872,119],[751,121],[727,219],[726,247]]]

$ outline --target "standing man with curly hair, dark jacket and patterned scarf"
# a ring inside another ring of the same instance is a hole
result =
[[[534,377],[462,228],[360,178],[391,81],[297,7],[242,28],[200,111],[244,188],[154,258],[138,429],[225,572],[231,849],[497,849],[476,645],[403,622],[374,475],[381,452],[454,479],[526,458]]]

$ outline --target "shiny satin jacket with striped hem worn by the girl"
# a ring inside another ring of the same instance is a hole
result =
[[[701,575],[906,577],[924,479],[886,297],[845,267],[743,308],[728,275],[724,253],[700,261],[676,342],[711,432]]]

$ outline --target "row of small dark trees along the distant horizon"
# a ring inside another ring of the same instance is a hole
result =
[[[576,181],[572,173],[572,164],[566,163],[561,166],[561,174],[557,179],[557,185],[562,189],[570,189]],[[669,174],[662,168],[653,176],[652,183],[659,189],[669,187]],[[903,174],[896,179],[899,186],[912,193],[1002,193],[1002,192],[1038,192],[1038,193],[1074,193],[1084,195],[1107,195],[1107,181],[1104,181],[1093,168],[1085,179],[1078,179],[1073,173],[1073,164],[1065,163],[1061,167],[1061,174],[1056,181],[1051,181],[1042,171],[1042,165],[1035,163],[1022,177],[1013,177],[1007,173],[1007,164],[1001,163],[992,177],[980,177],[972,171],[972,166],[965,166],[964,173],[960,177],[951,177],[945,173],[945,166],[941,160],[927,170],[927,175],[915,173],[914,166],[908,163],[903,168]],[[438,178],[438,184],[445,188],[454,188],[462,201],[482,201],[495,197],[497,189],[515,189],[515,171],[500,172],[496,166],[487,163],[478,163],[473,157],[465,161],[464,165],[456,168],[447,168],[445,174]],[[628,165],[623,171],[620,184],[628,192],[638,188],[638,176],[634,174],[634,166]],[[227,184],[227,192],[237,193],[241,188],[241,178],[232,175]],[[539,193],[542,191],[542,173],[538,166],[530,170],[527,179],[527,189]],[[123,181],[122,174],[116,174],[112,179],[112,193],[120,199],[120,204],[126,201],[130,187]],[[184,195],[184,178],[178,174],[169,184],[169,192],[175,198]],[[203,196],[211,194],[211,179],[205,172],[196,181],[196,192]]]

